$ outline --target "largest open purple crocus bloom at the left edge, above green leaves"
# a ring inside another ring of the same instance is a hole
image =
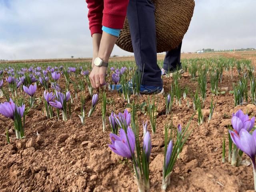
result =
[[[15,110],[17,110],[18,114],[20,114],[22,117],[25,110],[25,105],[18,107],[14,104],[11,98],[10,102],[4,102],[0,104],[0,114],[12,120],[14,119]]]

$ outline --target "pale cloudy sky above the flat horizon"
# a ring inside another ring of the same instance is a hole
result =
[[[182,52],[256,48],[256,0],[195,0]],[[85,0],[0,0],[0,59],[88,58]],[[132,55],[114,47],[112,55]]]

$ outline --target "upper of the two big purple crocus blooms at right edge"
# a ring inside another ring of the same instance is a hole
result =
[[[238,110],[232,115],[232,126],[234,130],[239,134],[241,129],[245,129],[250,132],[254,126],[255,117],[249,118],[248,114],[244,114],[242,110]]]

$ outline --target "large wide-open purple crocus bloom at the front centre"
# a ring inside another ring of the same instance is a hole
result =
[[[119,135],[120,136],[110,133],[110,140],[112,144],[109,144],[108,146],[114,153],[122,157],[132,159],[135,148],[135,136],[132,129],[130,127],[127,128],[127,137],[123,129],[120,129]]]

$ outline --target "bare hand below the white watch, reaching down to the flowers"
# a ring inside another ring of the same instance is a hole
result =
[[[106,77],[107,68],[103,66],[95,66],[92,68],[92,71],[89,75],[90,82],[94,89],[98,89],[100,86],[106,84],[105,77]]]

